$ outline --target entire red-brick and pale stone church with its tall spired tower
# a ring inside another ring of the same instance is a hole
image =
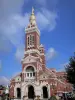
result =
[[[48,99],[54,93],[69,92],[72,86],[66,81],[65,72],[46,67],[44,46],[40,44],[40,31],[36,24],[34,9],[25,28],[25,52],[22,72],[10,81],[10,97]]]

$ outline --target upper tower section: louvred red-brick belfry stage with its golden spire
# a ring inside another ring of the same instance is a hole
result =
[[[34,8],[32,8],[32,13],[29,18],[29,25],[27,26],[27,28],[25,28],[25,33],[26,33],[25,51],[30,49],[39,49],[40,31],[36,24]]]

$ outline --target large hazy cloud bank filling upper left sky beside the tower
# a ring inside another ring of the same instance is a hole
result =
[[[9,51],[11,43],[17,45],[21,41],[19,31],[24,27],[21,16],[24,0],[0,0],[0,51]],[[26,17],[27,15],[25,15]],[[22,22],[20,22],[20,20]],[[26,23],[26,22],[25,22]],[[16,39],[17,38],[17,39]],[[7,47],[8,46],[8,47]]]

